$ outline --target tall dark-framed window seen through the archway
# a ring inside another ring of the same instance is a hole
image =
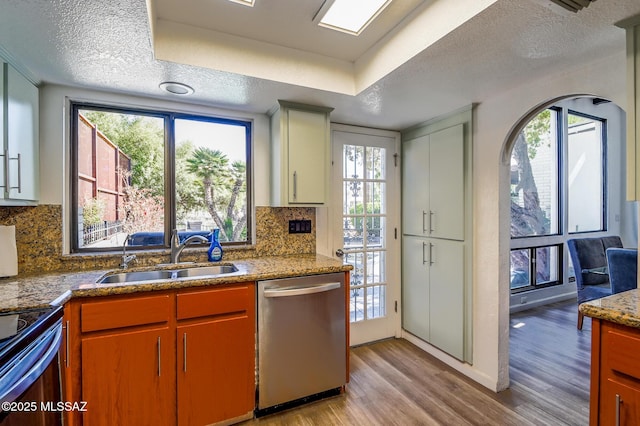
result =
[[[511,152],[511,292],[562,284],[569,235],[606,230],[605,120],[545,109]]]

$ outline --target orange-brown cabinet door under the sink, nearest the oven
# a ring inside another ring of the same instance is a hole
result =
[[[175,346],[168,326],[82,339],[85,425],[174,425]]]

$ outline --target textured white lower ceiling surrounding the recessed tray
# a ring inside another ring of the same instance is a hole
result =
[[[177,80],[196,89],[188,102],[265,113],[287,99],[332,106],[335,122],[404,129],[622,52],[614,23],[640,14],[637,0],[600,0],[578,14],[538,2],[498,0],[356,96],[156,60],[145,0],[0,0],[0,50],[41,82],[176,99],[158,84]]]

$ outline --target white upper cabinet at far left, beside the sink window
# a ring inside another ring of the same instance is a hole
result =
[[[2,64],[2,165],[0,205],[28,205],[39,191],[38,88],[7,63]]]

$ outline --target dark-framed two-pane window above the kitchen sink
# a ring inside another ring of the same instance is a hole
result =
[[[73,104],[74,251],[251,241],[251,123]]]

